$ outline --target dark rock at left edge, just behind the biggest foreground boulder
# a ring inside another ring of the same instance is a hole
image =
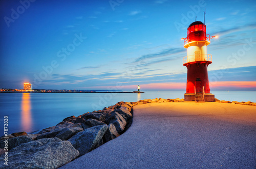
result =
[[[28,135],[21,135],[21,136],[10,138],[10,139],[8,139],[8,150],[11,150],[14,147],[17,147],[23,143],[31,142],[32,140],[33,139],[30,138]],[[5,145],[6,144],[4,141],[0,142],[0,148],[4,148]]]

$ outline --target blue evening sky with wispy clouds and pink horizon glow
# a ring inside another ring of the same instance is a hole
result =
[[[256,1],[0,3],[0,88],[185,91],[181,38],[205,11],[211,91],[256,91]]]

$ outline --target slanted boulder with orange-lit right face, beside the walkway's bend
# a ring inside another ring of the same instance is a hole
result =
[[[118,114],[118,112],[113,112],[113,114],[110,117],[110,122],[113,123],[114,126],[116,127],[116,130],[118,131],[119,134],[122,133],[126,126],[126,121],[123,119],[121,115]]]

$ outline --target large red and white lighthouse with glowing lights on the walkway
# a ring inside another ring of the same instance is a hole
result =
[[[201,21],[191,23],[187,28],[184,48],[187,56],[183,58],[183,66],[187,68],[187,86],[185,101],[215,101],[210,93],[207,67],[212,63],[211,54],[207,53],[210,40],[217,36],[206,34],[206,25]]]

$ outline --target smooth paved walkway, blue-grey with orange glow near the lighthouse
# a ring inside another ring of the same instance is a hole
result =
[[[124,134],[61,168],[256,168],[256,106],[134,107]]]

